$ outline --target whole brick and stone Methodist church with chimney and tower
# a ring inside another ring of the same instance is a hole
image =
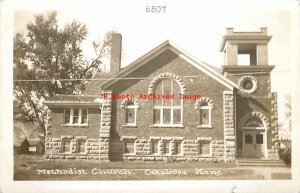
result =
[[[277,97],[271,92],[266,28],[227,28],[218,69],[165,41],[120,68],[122,36],[112,34],[110,73],[82,95],[56,95],[47,160],[231,162],[278,159]],[[240,56],[249,59],[240,64]]]

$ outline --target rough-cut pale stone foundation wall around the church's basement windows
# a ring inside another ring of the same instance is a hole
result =
[[[86,139],[86,151],[78,153],[78,137],[71,138],[71,153],[62,152],[63,138],[47,138],[45,143],[46,160],[78,160],[103,162],[106,160],[108,151],[108,141],[106,139]],[[159,143],[158,154],[151,153],[152,140],[156,139]],[[170,142],[168,154],[163,154],[163,141]],[[175,155],[175,142],[181,142],[181,153]],[[210,141],[210,154],[200,155],[199,144],[201,141]],[[103,145],[104,144],[104,145]],[[136,139],[135,153],[123,154],[124,161],[164,161],[164,162],[223,162],[224,161],[224,140],[214,140],[210,137],[198,137],[195,140],[183,140],[182,138],[154,137],[150,139]]]

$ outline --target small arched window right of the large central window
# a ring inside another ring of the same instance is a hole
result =
[[[211,110],[213,102],[207,97],[201,97],[195,103],[195,108],[199,110],[199,128],[211,128]]]

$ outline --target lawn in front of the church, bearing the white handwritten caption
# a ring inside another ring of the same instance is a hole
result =
[[[38,155],[15,155],[14,180],[242,180],[263,179],[235,163],[45,162]]]

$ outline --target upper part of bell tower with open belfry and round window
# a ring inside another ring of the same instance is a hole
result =
[[[220,46],[225,60],[221,73],[248,94],[270,95],[270,72],[274,68],[268,63],[271,38],[267,28],[260,28],[259,32],[235,32],[227,28]]]

